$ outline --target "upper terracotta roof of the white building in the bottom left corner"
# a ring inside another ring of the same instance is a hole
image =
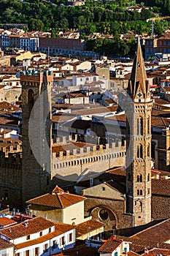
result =
[[[47,219],[43,219],[42,217],[35,217],[34,219],[27,220],[26,222],[21,222],[18,225],[13,225],[12,227],[4,227],[0,230],[0,233],[7,236],[9,239],[16,239],[37,233],[53,226],[53,222],[49,222]]]

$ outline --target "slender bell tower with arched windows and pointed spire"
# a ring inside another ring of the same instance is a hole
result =
[[[150,88],[138,38],[128,81],[126,113],[126,212],[133,225],[151,221],[151,110]]]

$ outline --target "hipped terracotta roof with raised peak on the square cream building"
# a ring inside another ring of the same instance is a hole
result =
[[[34,199],[28,200],[26,203],[35,204],[39,206],[50,206],[55,208],[66,208],[85,200],[85,197],[80,195],[73,195],[65,192],[55,194],[45,194]]]

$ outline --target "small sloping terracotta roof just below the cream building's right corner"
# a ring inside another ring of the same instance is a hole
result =
[[[76,226],[76,237],[78,238],[80,236],[88,234],[89,232],[92,232],[93,230],[96,230],[100,227],[104,227],[104,224],[101,222],[97,222],[94,219],[82,222]]]

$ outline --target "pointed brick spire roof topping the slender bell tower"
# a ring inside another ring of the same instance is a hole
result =
[[[144,67],[144,59],[142,56],[142,48],[140,39],[138,37],[137,52],[134,58],[134,64],[131,71],[131,78],[128,81],[128,94],[134,99],[135,97],[147,98],[149,85],[147,80],[147,73]]]

